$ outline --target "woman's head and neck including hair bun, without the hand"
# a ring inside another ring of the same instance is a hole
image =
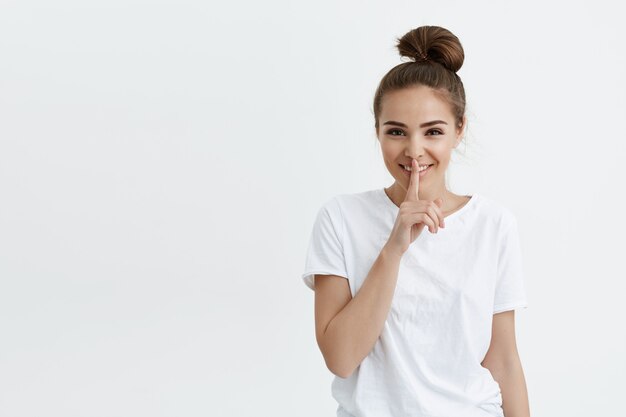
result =
[[[432,165],[428,175],[420,175],[420,195],[426,200],[442,197],[443,212],[451,213],[468,200],[445,185],[451,152],[467,123],[465,89],[456,73],[465,53],[454,34],[436,26],[409,31],[397,46],[400,55],[415,62],[391,69],[374,95],[376,136],[385,165],[396,179],[386,192],[399,206],[408,181],[398,167],[410,165],[413,158],[420,167]]]

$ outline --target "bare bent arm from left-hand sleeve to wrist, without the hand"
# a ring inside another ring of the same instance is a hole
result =
[[[383,247],[354,298],[338,294],[346,280],[315,278],[317,340],[335,375],[349,377],[374,347],[391,308],[400,257]],[[342,307],[343,306],[343,307]],[[336,311],[340,309],[337,313]]]

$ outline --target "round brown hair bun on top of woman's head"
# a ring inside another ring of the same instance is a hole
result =
[[[434,61],[457,72],[465,59],[459,38],[440,26],[420,26],[397,38],[400,56],[415,62]]]

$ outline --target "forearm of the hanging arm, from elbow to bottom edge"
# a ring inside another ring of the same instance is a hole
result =
[[[492,368],[489,370],[502,391],[504,416],[530,417],[526,379],[519,358]]]

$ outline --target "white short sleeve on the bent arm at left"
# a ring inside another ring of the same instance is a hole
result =
[[[336,198],[318,211],[306,253],[302,279],[315,290],[315,274],[348,278],[342,244],[343,219]]]

